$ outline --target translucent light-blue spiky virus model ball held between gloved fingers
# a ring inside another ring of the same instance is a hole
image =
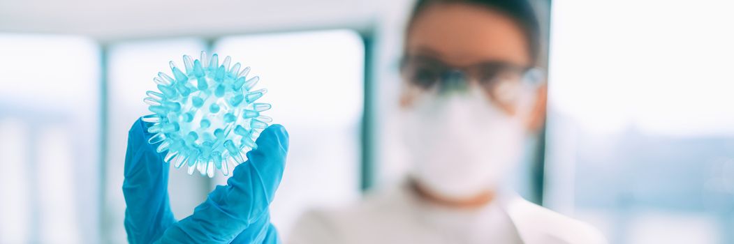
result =
[[[186,73],[169,62],[173,77],[161,72],[153,78],[159,92],[146,92],[144,101],[155,114],[142,119],[152,123],[148,143],[168,151],[165,162],[214,177],[215,169],[228,175],[244,162],[244,152],[257,148],[255,138],[272,119],[260,114],[270,104],[255,103],[267,90],[252,90],[259,78],[247,78],[250,67],[230,67],[229,56],[222,64],[217,54],[207,58],[205,52],[200,59],[184,55]]]

